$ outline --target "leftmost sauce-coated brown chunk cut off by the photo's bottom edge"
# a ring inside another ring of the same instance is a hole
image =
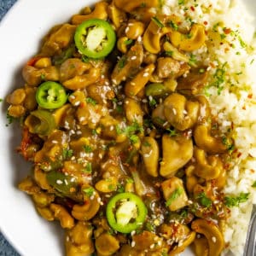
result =
[[[79,221],[71,230],[65,234],[65,247],[67,256],[89,256],[94,253],[91,225]]]

